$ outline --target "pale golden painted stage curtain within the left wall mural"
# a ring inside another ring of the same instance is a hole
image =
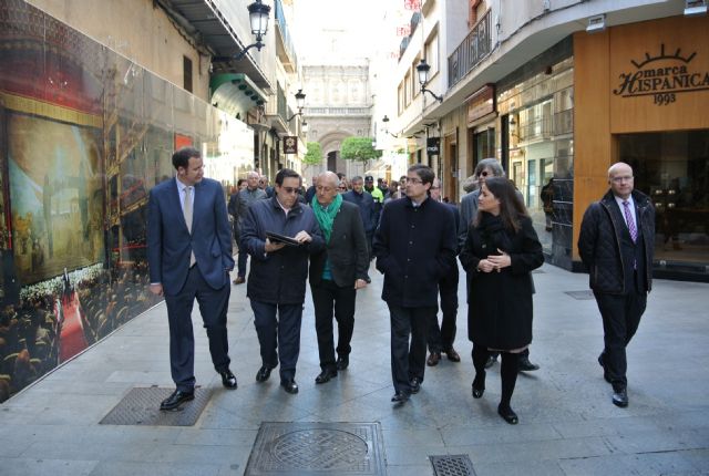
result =
[[[21,114],[8,118],[14,266],[25,284],[102,259],[100,133]]]

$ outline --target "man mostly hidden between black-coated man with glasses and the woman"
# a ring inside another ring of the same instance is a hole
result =
[[[441,201],[441,180],[433,179],[433,186],[430,189],[430,198],[433,201]],[[461,214],[458,207],[453,204],[442,203],[453,213],[455,217],[455,235],[460,236]],[[456,253],[458,255],[458,253]],[[441,325],[439,325],[438,315],[429,325],[429,359],[427,364],[430,366],[438,365],[441,361],[441,352],[448,355],[448,359],[452,362],[460,362],[461,356],[453,349],[453,341],[455,340],[458,320],[458,281],[459,272],[458,266],[451,269],[451,272],[445,275],[439,282],[439,291],[441,294]]]

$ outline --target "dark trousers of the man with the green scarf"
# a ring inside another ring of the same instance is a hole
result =
[[[337,321],[337,353],[347,356],[351,352],[350,341],[354,330],[354,286],[340,288],[335,281],[322,280],[311,286],[315,307],[315,330],[318,334],[320,369],[335,369],[335,339],[332,337],[332,317]]]

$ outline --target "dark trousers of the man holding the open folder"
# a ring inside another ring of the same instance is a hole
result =
[[[295,379],[300,353],[302,303],[271,304],[251,299],[251,309],[263,365],[275,369],[280,362],[281,382]]]

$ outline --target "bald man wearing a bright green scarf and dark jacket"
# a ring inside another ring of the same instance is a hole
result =
[[[310,290],[321,369],[316,383],[330,381],[338,370],[349,365],[357,290],[370,282],[367,235],[359,207],[342,200],[338,194],[339,183],[332,172],[320,174],[311,201],[326,242],[323,251],[310,257]],[[333,317],[338,324],[337,361]]]

